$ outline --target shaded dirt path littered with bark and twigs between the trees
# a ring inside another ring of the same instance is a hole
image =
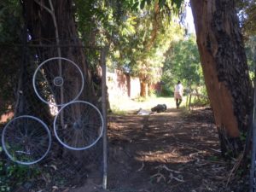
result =
[[[107,191],[231,191],[224,187],[230,167],[220,158],[211,110],[111,115],[108,122]],[[82,191],[106,190],[88,181],[73,189]]]

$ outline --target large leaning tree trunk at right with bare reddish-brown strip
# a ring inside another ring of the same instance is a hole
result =
[[[223,154],[241,151],[253,106],[252,83],[234,0],[190,0],[197,45]]]

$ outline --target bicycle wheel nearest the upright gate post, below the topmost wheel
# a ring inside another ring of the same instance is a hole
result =
[[[66,148],[90,148],[102,137],[102,113],[90,102],[67,103],[55,116],[54,131],[57,140]]]

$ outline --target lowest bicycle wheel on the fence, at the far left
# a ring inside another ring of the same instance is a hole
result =
[[[42,120],[22,115],[5,125],[2,145],[9,159],[22,165],[32,165],[48,154],[51,136]]]

